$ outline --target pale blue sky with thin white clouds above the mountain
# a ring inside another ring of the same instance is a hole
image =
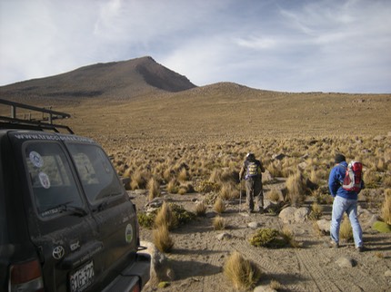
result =
[[[195,85],[391,92],[389,0],[0,0],[0,85],[152,56]]]

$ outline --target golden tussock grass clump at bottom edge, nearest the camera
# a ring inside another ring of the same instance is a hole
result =
[[[261,277],[261,270],[252,261],[235,251],[226,259],[224,275],[236,290],[249,290],[256,286]]]

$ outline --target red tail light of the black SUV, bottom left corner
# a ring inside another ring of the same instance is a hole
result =
[[[9,291],[42,292],[44,280],[41,265],[37,259],[21,264],[14,264],[9,268]]]

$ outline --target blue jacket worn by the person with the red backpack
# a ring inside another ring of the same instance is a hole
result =
[[[349,200],[357,200],[358,192],[344,190],[342,188],[346,175],[346,168],[346,161],[336,164],[336,166],[330,171],[330,176],[328,177],[328,189],[333,197],[339,196]]]

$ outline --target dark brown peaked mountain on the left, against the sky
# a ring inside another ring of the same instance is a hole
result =
[[[194,88],[185,76],[156,63],[151,57],[124,62],[97,63],[69,73],[0,87],[0,98],[115,97],[119,99],[157,92]]]

